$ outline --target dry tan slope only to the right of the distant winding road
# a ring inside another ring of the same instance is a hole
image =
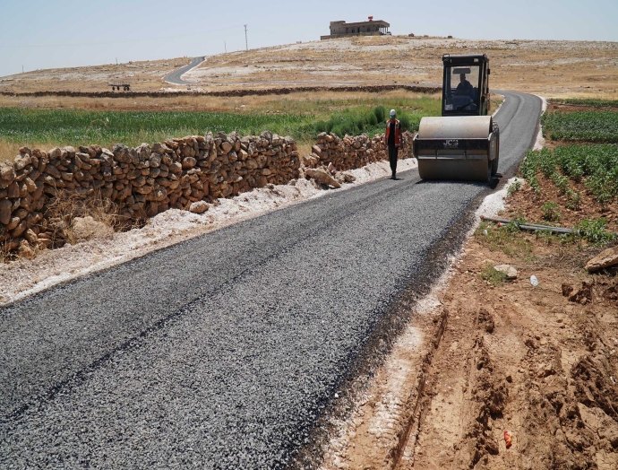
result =
[[[485,52],[492,87],[571,97],[618,95],[618,43],[407,37],[330,39],[209,57],[205,83],[442,83],[442,54]],[[379,64],[379,66],[375,66]]]

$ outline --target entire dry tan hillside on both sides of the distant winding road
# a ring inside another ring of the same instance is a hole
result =
[[[162,77],[188,58],[44,70],[0,78],[0,91],[107,91],[124,78],[136,91],[224,90],[307,84],[441,83],[442,54],[485,52],[492,86],[547,96],[615,97],[618,43],[555,40],[473,40],[358,37],[330,39],[207,57],[189,74],[191,87]]]

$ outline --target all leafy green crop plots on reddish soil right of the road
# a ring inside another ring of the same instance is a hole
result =
[[[573,104],[607,100],[570,100]],[[507,214],[515,222],[483,222],[476,236],[492,251],[529,259],[531,243],[604,247],[618,235],[618,113],[601,110],[553,112],[541,118],[548,147],[528,151],[519,176],[508,191]],[[578,141],[579,144],[567,144]],[[507,215],[505,214],[505,215]],[[533,222],[572,229],[570,235],[551,231],[519,232],[518,223]]]

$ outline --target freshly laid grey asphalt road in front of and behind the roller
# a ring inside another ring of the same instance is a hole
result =
[[[541,101],[504,93],[500,171]],[[0,309],[0,467],[281,468],[489,189],[415,170]]]

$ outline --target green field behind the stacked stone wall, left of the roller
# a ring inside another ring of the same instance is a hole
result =
[[[377,107],[377,102],[382,104]],[[291,135],[299,142],[313,142],[322,131],[343,136],[383,132],[388,110],[409,130],[416,130],[423,116],[440,114],[440,100],[431,97],[387,100],[278,100],[270,109],[244,112],[192,111],[90,111],[81,109],[0,108],[0,152],[15,144],[29,146],[154,144],[168,138],[223,131],[259,135],[269,130]],[[8,151],[4,151],[8,152]],[[1,157],[2,155],[0,155]],[[4,155],[5,158],[8,155]]]

